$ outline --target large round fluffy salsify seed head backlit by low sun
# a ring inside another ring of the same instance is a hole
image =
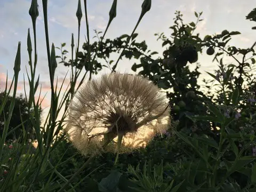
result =
[[[165,93],[137,75],[112,73],[82,84],[68,110],[69,140],[84,155],[116,152],[119,135],[118,153],[130,152],[170,125]]]

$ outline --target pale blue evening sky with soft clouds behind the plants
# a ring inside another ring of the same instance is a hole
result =
[[[91,41],[94,29],[98,31],[105,30],[109,19],[109,10],[112,0],[89,0],[87,1],[87,12],[89,18]],[[110,25],[106,38],[113,39],[123,34],[131,34],[139,15],[141,13],[142,0],[118,0],[117,16]],[[30,28],[31,40],[33,39],[33,30],[31,18],[28,14],[30,7],[28,0],[0,0],[0,90],[3,89],[6,71],[8,71],[8,81],[11,81],[13,75],[13,63],[17,52],[18,42],[21,41],[21,71],[19,75],[18,93],[24,93],[23,75],[25,75],[25,85],[27,85],[26,67],[28,67],[27,53],[27,31]],[[82,3],[83,18],[81,22],[81,44],[85,41],[86,26],[84,16],[84,4]],[[42,1],[39,4],[39,17],[37,18],[37,75],[40,74],[40,83],[42,85],[42,95],[46,94],[42,103],[44,108],[50,105],[50,81],[49,69],[46,56],[46,44],[43,21]],[[230,41],[230,44],[239,47],[250,47],[255,41],[255,30],[251,28],[255,24],[245,20],[245,16],[254,8],[254,0],[152,0],[151,10],[143,17],[136,33],[138,41],[145,40],[150,50],[162,52],[162,42],[156,41],[155,33],[164,32],[166,36],[171,34],[170,26],[173,25],[174,13],[181,11],[185,23],[196,21],[194,12],[201,12],[202,22],[199,23],[196,33],[201,37],[215,33],[221,33],[222,30],[240,31]],[[67,43],[67,50],[70,50],[71,33],[74,33],[75,41],[77,39],[77,19],[76,19],[77,1],[73,0],[49,0],[49,37],[50,44],[60,46],[61,43]],[[34,46],[34,44],[33,44]],[[205,50],[206,51],[206,50]],[[56,50],[56,54],[60,52]],[[161,55],[162,56],[162,55]],[[205,71],[213,71],[217,68],[216,63],[212,63],[213,56],[199,54],[198,62],[201,63],[201,79],[205,77]],[[226,62],[234,62],[230,58]],[[133,60],[123,60],[119,62],[118,71],[131,71]],[[191,65],[195,67],[196,64]],[[58,64],[56,77],[63,79],[68,72],[68,68]],[[109,72],[107,70],[103,72]],[[38,98],[38,95],[36,95]]]

